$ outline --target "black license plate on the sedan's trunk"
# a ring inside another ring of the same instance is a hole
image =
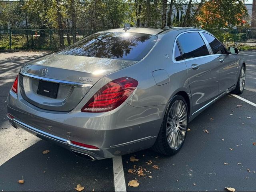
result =
[[[56,99],[58,88],[58,83],[39,80],[37,94]]]

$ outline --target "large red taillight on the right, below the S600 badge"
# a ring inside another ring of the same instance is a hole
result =
[[[82,112],[107,112],[120,106],[136,89],[138,81],[130,77],[113,80],[103,86],[81,109]]]

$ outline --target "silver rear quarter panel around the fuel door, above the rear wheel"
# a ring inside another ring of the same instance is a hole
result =
[[[174,40],[179,32],[160,34],[158,41],[148,55],[140,62],[127,68],[109,74],[99,80],[94,88],[101,88],[111,80],[128,76],[138,80],[139,84],[132,96],[126,100],[134,107],[167,105],[179,91],[190,96],[188,74],[185,62],[172,62]],[[168,83],[157,85],[152,72],[165,70],[169,76]]]

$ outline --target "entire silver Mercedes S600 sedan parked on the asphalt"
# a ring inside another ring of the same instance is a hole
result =
[[[15,128],[100,160],[180,150],[188,122],[229,92],[245,62],[196,28],[113,29],[25,63],[7,99]]]

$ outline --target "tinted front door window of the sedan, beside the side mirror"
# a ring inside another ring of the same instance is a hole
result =
[[[214,38],[213,36],[211,36],[208,33],[202,33],[202,34],[204,35],[204,37],[210,44],[213,54],[227,54],[228,53],[226,48],[216,38]]]

